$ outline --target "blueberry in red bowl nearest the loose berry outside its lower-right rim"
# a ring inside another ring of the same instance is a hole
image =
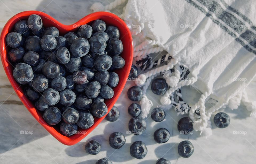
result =
[[[95,102],[91,105],[90,111],[93,116],[101,118],[107,114],[107,106],[103,102]]]

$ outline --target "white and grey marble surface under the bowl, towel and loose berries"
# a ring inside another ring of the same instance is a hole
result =
[[[101,0],[104,2],[104,0]],[[104,3],[111,2],[106,0]],[[69,0],[0,0],[0,30],[11,16],[21,11],[40,10],[53,16],[58,21],[71,24],[89,14],[93,1]],[[120,8],[121,9],[121,8]],[[120,10],[118,9],[118,10]],[[114,12],[119,15],[118,11]],[[151,118],[146,120],[147,129],[141,136],[126,134],[130,116],[127,107],[131,101],[127,99],[126,92],[133,82],[127,82],[122,95],[115,106],[120,110],[120,118],[116,122],[103,121],[92,133],[81,142],[73,146],[62,145],[52,137],[23,106],[5,72],[0,68],[0,163],[85,163],[94,164],[97,159],[109,157],[115,163],[154,164],[158,158],[166,157],[171,163],[255,163],[255,119],[249,117],[249,112],[244,106],[231,111],[225,109],[231,117],[228,128],[219,129],[213,124],[213,135],[208,139],[202,138],[197,132],[193,135],[181,135],[177,130],[177,122],[182,116],[177,116],[171,109],[166,111],[166,119],[155,123]],[[255,98],[256,82],[247,87],[248,94]],[[199,92],[189,87],[182,88],[184,100],[193,97],[194,103],[199,98]],[[154,107],[159,104],[159,96],[148,91]],[[209,104],[208,104],[209,105]],[[210,106],[210,105],[209,105]],[[156,144],[153,133],[158,128],[167,128],[171,137],[167,143]],[[32,131],[33,134],[20,134],[20,131]],[[119,150],[111,148],[108,144],[109,134],[115,131],[122,132],[126,137],[126,144]],[[244,131],[247,134],[233,134],[233,131]],[[88,140],[95,139],[101,142],[102,151],[98,155],[88,155],[85,144]],[[194,147],[194,154],[190,158],[181,158],[177,153],[178,143],[189,139]],[[132,142],[141,140],[148,148],[147,156],[134,159],[129,154]]]

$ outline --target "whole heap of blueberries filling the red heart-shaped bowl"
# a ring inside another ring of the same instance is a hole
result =
[[[13,31],[6,36],[13,77],[49,125],[71,136],[106,115],[104,100],[119,82],[114,70],[125,65],[117,27],[94,20],[59,36],[58,28],[43,27],[33,14]]]

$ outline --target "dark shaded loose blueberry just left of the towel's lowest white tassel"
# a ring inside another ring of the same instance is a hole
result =
[[[192,132],[193,129],[193,121],[189,117],[183,117],[178,122],[178,131],[181,134],[189,134],[189,132]]]

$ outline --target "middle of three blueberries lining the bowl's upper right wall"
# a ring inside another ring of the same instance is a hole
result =
[[[109,51],[111,55],[121,54],[123,52],[122,41],[117,38],[109,39],[109,42],[107,43],[107,51]]]

